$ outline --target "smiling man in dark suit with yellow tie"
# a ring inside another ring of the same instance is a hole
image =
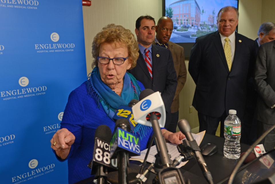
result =
[[[196,83],[192,105],[198,111],[199,131],[215,135],[229,109],[243,119],[247,73],[253,40],[235,33],[238,9],[223,7],[217,18],[218,31],[196,39],[191,49],[188,71]]]

